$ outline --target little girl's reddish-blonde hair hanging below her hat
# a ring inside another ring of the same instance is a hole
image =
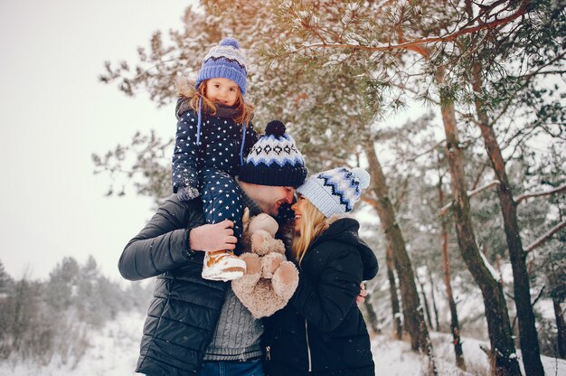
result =
[[[208,114],[216,115],[216,105],[211,100],[206,98],[206,82],[203,80],[197,89],[194,89],[194,82],[186,79],[177,81],[178,93],[181,98],[189,99],[189,104],[193,110],[199,110],[199,100],[203,99],[202,110]],[[241,96],[240,87],[238,87],[238,97],[236,99],[236,116],[233,120],[237,124],[250,124],[250,119],[253,114],[254,106],[244,102]]]

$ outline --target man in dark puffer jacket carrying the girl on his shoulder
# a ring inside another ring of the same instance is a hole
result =
[[[278,215],[307,176],[295,141],[280,126],[279,132],[259,138],[241,167],[241,197],[251,215]],[[201,277],[203,251],[235,249],[233,224],[203,223],[200,199],[182,202],[173,195],[122,252],[122,277],[157,276],[136,371],[262,376],[263,324],[241,304],[230,283]]]

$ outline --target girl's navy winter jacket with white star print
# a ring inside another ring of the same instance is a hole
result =
[[[219,108],[216,115],[199,114],[188,107],[188,99],[179,99],[176,107],[177,129],[173,154],[173,192],[186,187],[200,190],[203,171],[221,171],[237,175],[243,158],[258,141],[253,125],[237,124],[233,108]],[[245,131],[244,131],[245,127]],[[242,147],[243,145],[243,147]]]

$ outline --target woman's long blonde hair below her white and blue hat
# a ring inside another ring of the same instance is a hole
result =
[[[319,211],[312,202],[307,200],[301,211],[300,234],[298,236],[297,233],[294,234],[293,244],[291,245],[293,256],[299,264],[307,254],[307,249],[313,243],[313,240],[320,236],[327,228],[328,223],[325,214]]]

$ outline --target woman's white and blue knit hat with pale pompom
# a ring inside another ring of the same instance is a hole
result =
[[[310,176],[297,188],[316,208],[330,218],[352,211],[362,197],[362,190],[370,185],[370,174],[363,168],[352,170],[339,167]]]

